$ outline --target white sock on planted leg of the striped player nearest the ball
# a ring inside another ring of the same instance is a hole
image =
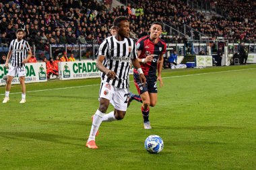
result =
[[[88,142],[90,140],[95,140],[96,132],[98,131],[98,128],[100,128],[100,124],[102,122],[102,118],[104,115],[105,114],[103,114],[99,110],[97,110],[96,113],[94,114],[94,120],[92,121],[92,128],[91,128],[90,136],[88,138]]]

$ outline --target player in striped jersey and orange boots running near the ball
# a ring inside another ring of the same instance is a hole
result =
[[[100,105],[93,116],[90,136],[86,143],[88,148],[98,148],[95,136],[102,122],[122,120],[125,117],[129,93],[129,62],[138,71],[141,84],[146,78],[137,60],[135,41],[129,37],[129,21],[127,17],[119,16],[114,20],[115,36],[106,38],[98,50],[96,65],[101,73]],[[106,114],[108,105],[114,105],[115,110]]]

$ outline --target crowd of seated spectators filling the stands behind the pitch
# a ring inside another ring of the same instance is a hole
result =
[[[207,1],[222,7],[224,15],[205,19],[203,13],[189,7],[187,1],[177,0],[140,0],[113,10],[110,10],[111,0],[3,0],[0,3],[0,44],[9,46],[18,28],[25,30],[24,39],[44,54],[49,54],[49,44],[100,44],[110,36],[109,28],[119,15],[129,17],[131,38],[136,40],[148,34],[152,22],[160,21],[179,30],[187,24],[212,40],[222,36],[230,42],[256,41],[255,2]],[[187,34],[191,36],[190,32]],[[197,32],[193,34],[199,36]],[[187,41],[187,37],[179,37],[168,28],[163,30],[162,38],[167,42]]]

